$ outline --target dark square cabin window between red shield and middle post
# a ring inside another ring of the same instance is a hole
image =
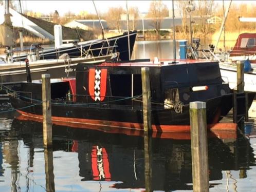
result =
[[[110,74],[109,76],[112,96],[132,96],[132,74]],[[133,85],[133,95],[140,95],[142,93],[141,74],[133,75]]]

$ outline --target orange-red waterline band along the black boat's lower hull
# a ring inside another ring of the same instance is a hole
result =
[[[40,115],[27,113],[20,110],[17,111],[22,114],[22,116],[18,117],[17,119],[32,120],[37,122],[43,121],[43,117]],[[123,133],[130,136],[143,136],[143,124],[139,123],[61,117],[52,117],[52,123],[61,126],[93,129],[108,133]],[[236,124],[234,123],[215,123],[207,125],[207,128],[210,129],[213,133],[217,133],[217,137],[236,138]],[[190,139],[189,125],[152,125],[152,129],[153,137],[163,139]]]

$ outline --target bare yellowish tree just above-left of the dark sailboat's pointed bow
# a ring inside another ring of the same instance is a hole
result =
[[[107,21],[108,26],[111,28],[115,28],[120,32],[120,19],[121,14],[123,13],[125,13],[125,10],[122,7],[109,8],[107,13],[105,14],[105,20]]]

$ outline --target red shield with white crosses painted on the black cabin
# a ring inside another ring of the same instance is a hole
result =
[[[89,69],[89,94],[94,101],[103,101],[106,95],[107,69]]]

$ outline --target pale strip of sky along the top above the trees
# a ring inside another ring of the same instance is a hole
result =
[[[87,11],[89,13],[96,13],[93,5],[93,1],[21,1],[23,10],[32,10],[34,12],[41,13],[50,13],[57,10],[61,16],[67,12],[79,13],[80,11]],[[122,6],[126,9],[126,1],[95,1],[98,12],[106,12],[110,7]],[[148,12],[151,1],[127,1],[128,7],[138,7],[141,13]],[[172,8],[172,1],[162,1],[167,5],[169,9]],[[175,2],[175,1],[174,1]],[[218,0],[216,3],[222,5],[222,1]],[[225,4],[228,4],[229,1],[225,0]],[[254,4],[256,1],[233,1],[232,4]]]

